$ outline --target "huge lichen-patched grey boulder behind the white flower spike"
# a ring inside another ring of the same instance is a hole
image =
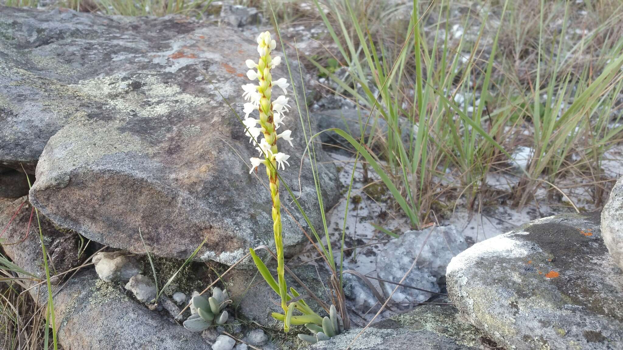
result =
[[[145,253],[141,228],[151,253],[172,258],[207,239],[197,260],[231,265],[273,240],[264,177],[244,163],[257,151],[220,95],[244,115],[244,61],[257,59],[256,45],[235,29],[184,17],[1,7],[0,166],[36,167],[31,202],[88,239]],[[273,77],[288,78],[285,64]],[[288,113],[295,143],[282,145],[292,156],[282,176],[317,224],[308,161],[298,186],[305,143],[298,120]],[[320,167],[330,207],[338,179],[332,164]],[[305,227],[290,202],[283,191],[282,203]],[[288,215],[283,232],[294,253],[305,236]]]

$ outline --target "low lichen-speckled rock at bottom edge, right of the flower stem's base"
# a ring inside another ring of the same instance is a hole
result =
[[[447,300],[437,299],[441,303]],[[363,328],[351,328],[328,341],[301,346],[307,350],[493,350],[495,343],[487,341],[471,324],[459,318],[450,305],[424,305],[412,311],[372,324],[354,343]],[[352,343],[352,344],[351,344]]]

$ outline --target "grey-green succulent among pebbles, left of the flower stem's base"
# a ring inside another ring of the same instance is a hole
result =
[[[209,298],[204,295],[193,296],[192,303],[197,313],[184,321],[184,328],[189,331],[205,331],[212,326],[212,321],[216,324],[223,324],[229,317],[227,310],[223,310],[229,303],[227,290],[222,291],[221,288],[214,287],[212,296]]]

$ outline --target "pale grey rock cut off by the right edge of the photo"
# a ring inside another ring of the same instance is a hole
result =
[[[623,270],[623,177],[612,187],[601,212],[601,235],[614,262]]]

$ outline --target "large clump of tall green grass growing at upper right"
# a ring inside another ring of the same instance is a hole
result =
[[[538,186],[561,191],[556,182],[570,176],[587,179],[599,205],[599,160],[622,130],[611,126],[619,123],[623,86],[622,6],[610,4],[608,16],[599,4],[586,5],[587,16],[598,12],[602,22],[570,40],[570,13],[579,9],[563,1],[483,2],[465,15],[457,11],[462,2],[413,1],[402,22],[371,15],[391,11],[375,2],[315,4],[336,47],[328,57],[347,75],[308,59],[369,121],[388,123],[388,135],[376,136],[383,148],[364,144],[359,152],[414,227],[430,220],[445,194],[464,196],[474,209],[488,175],[511,173],[517,146],[532,153],[525,169],[516,167],[516,206]],[[357,149],[360,135],[344,134]]]

